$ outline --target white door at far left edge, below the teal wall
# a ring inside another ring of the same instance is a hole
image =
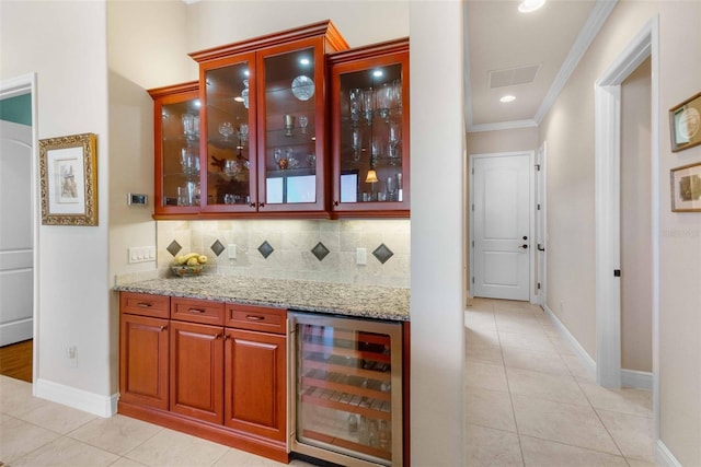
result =
[[[33,334],[32,127],[0,120],[0,346]]]

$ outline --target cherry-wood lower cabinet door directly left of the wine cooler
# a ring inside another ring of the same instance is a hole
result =
[[[227,330],[225,411],[227,427],[285,441],[287,339]]]

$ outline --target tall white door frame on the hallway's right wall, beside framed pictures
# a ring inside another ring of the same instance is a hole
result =
[[[621,387],[621,83],[647,57],[652,66],[653,416],[659,430],[659,17],[653,17],[595,84],[597,383]]]

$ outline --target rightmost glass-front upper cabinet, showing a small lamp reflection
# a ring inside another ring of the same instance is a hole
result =
[[[409,40],[330,57],[335,217],[409,217]]]

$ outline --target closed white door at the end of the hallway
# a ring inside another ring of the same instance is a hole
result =
[[[531,153],[473,157],[474,296],[530,300]]]

